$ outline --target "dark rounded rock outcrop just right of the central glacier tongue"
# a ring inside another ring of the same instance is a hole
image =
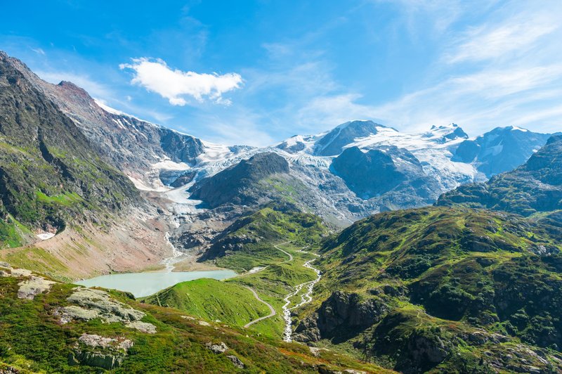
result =
[[[276,153],[259,153],[242,160],[190,188],[191,197],[203,200],[210,207],[226,202],[235,205],[254,205],[261,193],[256,183],[274,174],[289,173],[289,163]]]

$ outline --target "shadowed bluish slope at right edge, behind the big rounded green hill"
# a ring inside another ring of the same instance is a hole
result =
[[[512,172],[486,183],[460,186],[440,196],[438,205],[466,205],[529,216],[562,209],[562,136],[547,144]]]

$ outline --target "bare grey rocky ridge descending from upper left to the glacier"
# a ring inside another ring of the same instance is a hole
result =
[[[192,165],[203,153],[198,138],[107,108],[72,82],[44,82],[20,60],[6,58],[34,88],[74,120],[105,161],[129,175],[141,177],[152,164],[164,160]]]

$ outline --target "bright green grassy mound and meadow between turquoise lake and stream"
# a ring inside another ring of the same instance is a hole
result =
[[[301,247],[291,243],[277,247],[291,254],[292,261],[289,261],[287,254],[275,249],[284,258],[256,273],[246,273],[223,281],[191,280],[145,297],[142,301],[181,309],[205,321],[220,320],[229,325],[244,326],[270,314],[268,307],[247,289],[249,287],[277,312],[277,315],[251,325],[249,330],[280,339],[285,325],[282,319],[283,299],[295,285],[313,280],[315,273],[303,267],[304,262],[313,258],[312,254],[299,252]],[[292,301],[299,299],[300,295],[295,295]]]

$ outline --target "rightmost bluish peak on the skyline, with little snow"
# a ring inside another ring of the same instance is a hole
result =
[[[460,143],[452,160],[473,164],[490,178],[523,164],[549,137],[514,126],[497,127]]]

